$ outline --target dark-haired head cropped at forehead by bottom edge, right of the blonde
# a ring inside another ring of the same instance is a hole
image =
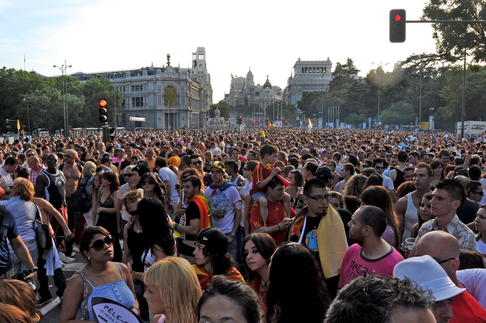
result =
[[[248,285],[214,277],[197,303],[197,322],[261,323],[259,303]]]

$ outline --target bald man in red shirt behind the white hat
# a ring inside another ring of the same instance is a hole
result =
[[[459,269],[459,242],[450,233],[444,231],[433,231],[426,233],[417,243],[417,256],[428,254],[446,271],[451,281],[462,288],[457,280],[456,272]],[[472,297],[466,290],[452,298],[452,313],[454,317],[451,321],[447,316],[442,317],[442,321],[451,323],[472,323],[486,322],[486,312],[483,306]],[[444,311],[446,313],[447,311]]]

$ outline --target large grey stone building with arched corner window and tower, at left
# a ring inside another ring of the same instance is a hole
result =
[[[117,126],[155,128],[205,127],[212,104],[210,75],[206,51],[198,47],[192,53],[192,67],[173,67],[170,54],[167,66],[149,66],[135,70],[83,73],[69,76],[86,82],[91,77],[107,77],[115,89],[125,94]],[[130,121],[130,117],[146,121]]]

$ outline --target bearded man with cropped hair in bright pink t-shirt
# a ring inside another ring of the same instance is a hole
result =
[[[349,237],[357,243],[346,251],[339,288],[360,276],[393,276],[393,268],[403,257],[382,239],[386,224],[385,214],[376,206],[362,206],[351,216]]]

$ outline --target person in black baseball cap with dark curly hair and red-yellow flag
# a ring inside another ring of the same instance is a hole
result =
[[[226,234],[216,228],[206,228],[197,233],[194,241],[183,240],[188,246],[195,248],[192,265],[202,289],[208,287],[209,281],[216,275],[226,275],[231,280],[244,283],[243,276],[234,267],[235,262],[228,251]]]

